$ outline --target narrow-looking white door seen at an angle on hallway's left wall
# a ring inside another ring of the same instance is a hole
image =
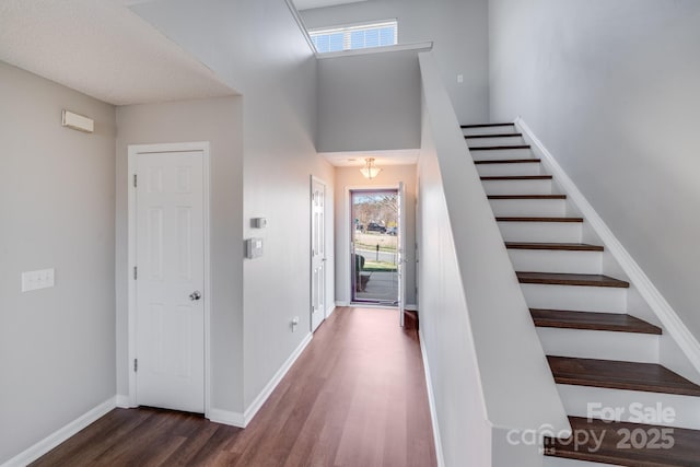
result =
[[[323,323],[326,313],[326,185],[311,180],[311,330]]]

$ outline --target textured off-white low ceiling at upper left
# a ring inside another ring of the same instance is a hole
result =
[[[0,0],[0,60],[115,105],[235,94],[113,0]]]

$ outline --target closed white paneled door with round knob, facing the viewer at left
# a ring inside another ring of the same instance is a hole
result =
[[[137,404],[201,413],[203,154],[139,154],[137,177]]]

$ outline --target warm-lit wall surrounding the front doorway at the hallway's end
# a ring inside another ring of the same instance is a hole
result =
[[[371,180],[360,167],[336,167],[336,300],[350,302],[350,199],[351,188],[395,187],[404,182],[406,191],[406,304],[416,305],[416,165],[383,165]]]

